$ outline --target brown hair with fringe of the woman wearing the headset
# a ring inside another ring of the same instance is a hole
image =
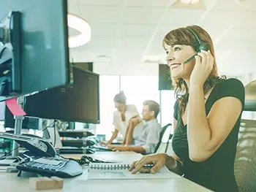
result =
[[[217,85],[217,83],[225,79],[223,77],[219,77],[217,74],[214,44],[211,40],[210,35],[200,26],[187,26],[186,28],[177,28],[165,35],[165,38],[162,41],[162,46],[165,47],[165,45],[189,45],[192,46],[195,51],[197,51],[197,46],[199,45],[199,43],[197,42],[195,35],[192,34],[192,32],[189,31],[189,29],[187,28],[192,29],[192,31],[194,31],[195,34],[197,34],[197,37],[200,39],[201,42],[208,43],[211,55],[214,56],[214,67],[203,85],[203,92],[207,93],[211,90],[211,88],[214,87],[214,85]],[[175,97],[176,99],[178,99],[179,109],[182,115],[187,107],[187,101],[189,99],[189,89],[187,87],[186,82],[181,78],[172,77],[172,82],[173,88],[175,89]]]

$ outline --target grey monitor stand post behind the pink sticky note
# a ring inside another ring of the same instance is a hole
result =
[[[20,105],[20,107],[23,109],[24,104],[25,104],[25,97],[24,96],[20,96],[17,99],[17,104]],[[24,116],[14,116],[15,118],[15,128],[14,128],[14,134],[21,134],[21,128],[22,128],[22,121],[24,119]],[[18,157],[18,143],[13,141],[13,145],[12,145],[12,156],[8,157],[8,158],[17,158]]]

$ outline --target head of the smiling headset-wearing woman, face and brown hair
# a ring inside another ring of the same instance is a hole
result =
[[[200,38],[197,37],[197,34]],[[200,49],[204,49],[205,47],[200,47],[202,44],[208,45],[206,50],[210,50],[214,58],[211,73],[203,85],[203,91],[207,93],[214,85],[222,80],[222,77],[218,77],[217,74],[214,45],[209,34],[204,30],[200,30],[198,26],[194,26],[190,30],[187,28],[178,28],[166,34],[165,39],[162,41],[162,46],[167,53],[166,60],[170,66],[170,76],[172,77],[175,88],[175,97],[176,99],[180,99],[179,106],[181,111],[184,111],[185,103],[188,99],[189,77],[195,65],[195,61],[191,59],[191,55],[195,56],[197,52],[200,52]],[[190,61],[187,62],[188,60]]]

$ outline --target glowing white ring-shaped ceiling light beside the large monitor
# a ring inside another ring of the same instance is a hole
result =
[[[67,26],[80,32],[77,36],[69,37],[70,48],[85,45],[91,40],[91,26],[83,18],[68,13]]]

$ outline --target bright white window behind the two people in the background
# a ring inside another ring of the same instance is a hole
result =
[[[120,84],[119,84],[120,83]],[[101,75],[99,77],[99,106],[100,124],[97,125],[97,134],[105,134],[106,139],[110,139],[114,130],[113,112],[116,108],[113,103],[114,96],[124,91],[127,96],[127,104],[135,104],[138,112],[143,110],[143,101],[154,100],[161,104],[160,113],[157,117],[161,126],[173,123],[173,106],[175,104],[174,91],[158,90],[158,76],[110,76]],[[167,128],[163,137],[163,142],[167,142],[170,127]]]

